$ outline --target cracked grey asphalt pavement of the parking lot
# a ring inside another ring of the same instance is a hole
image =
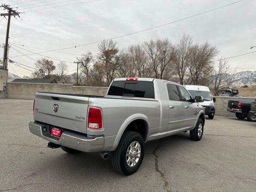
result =
[[[0,99],[2,191],[256,191],[256,122],[206,118],[202,140],[189,132],[146,143],[140,169],[114,171],[97,153],[67,154],[31,134],[33,100]]]

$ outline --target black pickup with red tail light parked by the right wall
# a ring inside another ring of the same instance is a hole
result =
[[[255,100],[256,101],[256,100]],[[253,102],[256,103],[256,102]],[[247,118],[248,121],[256,122],[256,116],[250,113],[252,103],[239,102],[239,101],[228,101],[227,110],[236,114],[238,119]]]

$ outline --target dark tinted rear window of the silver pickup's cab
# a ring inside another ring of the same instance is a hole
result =
[[[113,81],[108,95],[154,99],[154,84],[149,81]]]

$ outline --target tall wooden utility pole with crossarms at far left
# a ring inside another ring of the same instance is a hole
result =
[[[4,8],[4,10],[8,10],[8,13],[1,13],[0,16],[8,16],[8,24],[7,24],[7,30],[6,30],[6,39],[5,39],[5,45],[4,45],[4,69],[7,69],[7,63],[8,63],[8,40],[9,40],[9,31],[10,31],[10,21],[11,21],[11,16],[20,16],[19,12],[16,12],[15,10],[13,10],[12,7],[10,7],[9,5],[3,5],[2,6]]]

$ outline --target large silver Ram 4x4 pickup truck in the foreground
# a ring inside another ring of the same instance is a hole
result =
[[[37,92],[32,134],[65,152],[99,152],[116,171],[130,175],[140,167],[144,143],[190,130],[204,131],[201,96],[180,84],[154,78],[116,78],[106,96]]]

